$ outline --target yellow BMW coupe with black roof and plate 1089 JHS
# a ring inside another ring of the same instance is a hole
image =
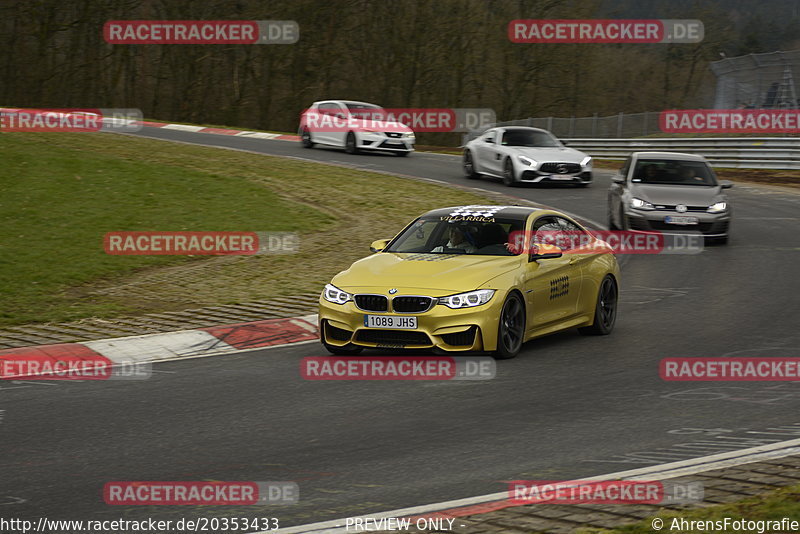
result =
[[[320,339],[333,354],[434,348],[504,359],[534,337],[614,328],[613,251],[557,211],[437,209],[370,249],[320,296]]]

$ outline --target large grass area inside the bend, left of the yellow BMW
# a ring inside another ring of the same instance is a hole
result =
[[[102,133],[0,135],[0,325],[318,291],[419,213],[492,203],[415,180]],[[292,231],[300,252],[115,256],[123,230]]]

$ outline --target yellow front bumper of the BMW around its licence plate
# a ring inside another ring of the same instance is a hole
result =
[[[358,293],[381,294],[359,288]],[[419,289],[400,291],[392,296],[420,295]],[[424,295],[424,293],[423,293]],[[445,351],[490,351],[497,348],[497,328],[504,295],[495,293],[481,306],[451,309],[435,304],[422,313],[371,312],[359,309],[353,301],[345,304],[319,299],[320,337],[335,347],[356,345],[389,349],[438,348]],[[365,315],[416,317],[414,330],[368,328]]]

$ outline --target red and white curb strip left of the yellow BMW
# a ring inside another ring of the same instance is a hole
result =
[[[164,334],[0,350],[0,362],[39,360],[121,365],[235,354],[318,339],[317,315],[267,319]]]

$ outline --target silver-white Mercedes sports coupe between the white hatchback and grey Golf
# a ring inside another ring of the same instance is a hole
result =
[[[509,186],[592,183],[592,158],[539,128],[491,128],[464,146],[463,161],[467,178],[493,176]]]

